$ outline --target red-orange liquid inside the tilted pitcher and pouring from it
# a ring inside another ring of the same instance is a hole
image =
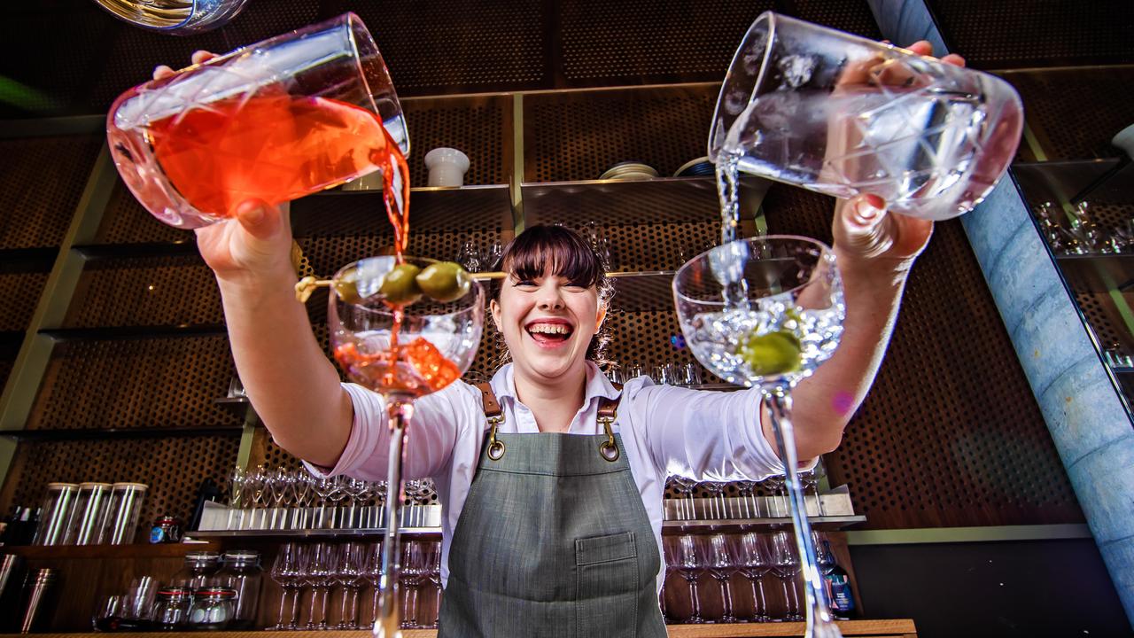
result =
[[[383,171],[399,258],[409,233],[409,170],[373,112],[338,100],[261,93],[215,100],[152,121],[169,182],[196,209],[231,217],[246,200],[278,204]],[[391,205],[400,170],[401,210]],[[400,259],[399,259],[400,260]]]

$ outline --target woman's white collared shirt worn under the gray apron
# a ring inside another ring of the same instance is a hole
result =
[[[583,408],[572,420],[568,434],[602,434],[598,422],[598,398],[618,396],[618,391],[599,368],[590,361],[586,364]],[[516,398],[510,363],[497,371],[491,385],[505,417],[498,431],[540,431],[531,410]],[[344,387],[354,402],[354,425],[347,446],[330,472],[307,467],[321,476],[386,480],[390,435],[382,397],[359,385],[344,384]],[[454,383],[414,404],[403,473],[406,479],[432,478],[437,485],[443,507],[442,582],[449,578],[449,543],[476,473],[488,429],[481,392],[468,384]],[[659,552],[668,476],[731,481],[760,480],[784,472],[784,464],[760,426],[759,389],[704,392],[654,385],[649,378],[638,377],[623,388],[612,429],[621,435],[626,460],[650,517]],[[659,587],[663,570],[665,557]]]

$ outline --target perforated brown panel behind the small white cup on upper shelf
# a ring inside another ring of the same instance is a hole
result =
[[[507,184],[511,179],[511,96],[404,100],[409,128],[409,183],[425,186],[425,154],[438,146],[468,156],[465,184]]]

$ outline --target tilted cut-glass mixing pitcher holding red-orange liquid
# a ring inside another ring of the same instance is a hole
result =
[[[409,154],[390,75],[354,14],[135,86],[111,107],[107,137],[130,192],[179,228],[232,217],[247,200],[332,188]],[[388,190],[400,192],[403,178],[391,171]]]

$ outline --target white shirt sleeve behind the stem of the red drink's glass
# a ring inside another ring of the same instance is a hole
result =
[[[342,384],[342,387],[354,404],[354,422],[347,445],[333,468],[306,461],[304,465],[320,477],[347,475],[363,480],[386,480],[390,451],[386,401],[358,384]],[[467,394],[467,386],[457,381],[414,401],[403,464],[406,479],[434,477],[449,463],[462,427],[462,409]]]

